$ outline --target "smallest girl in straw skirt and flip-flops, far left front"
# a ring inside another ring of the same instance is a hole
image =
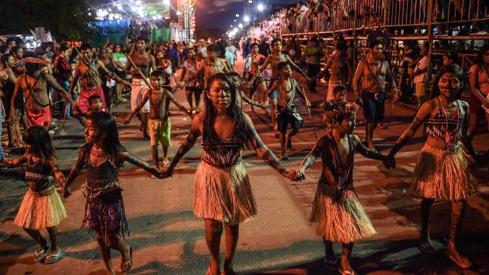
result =
[[[39,244],[34,252],[36,261],[50,264],[60,260],[63,255],[58,246],[56,226],[66,218],[65,207],[53,185],[53,175],[61,184],[65,183],[66,178],[58,166],[56,151],[46,129],[34,125],[24,131],[22,138],[26,143],[26,153],[17,159],[0,159],[0,162],[14,166],[26,163],[29,190],[22,200],[14,224],[24,228]],[[48,230],[51,244],[39,231],[45,228]],[[50,248],[51,251],[47,254]]]

